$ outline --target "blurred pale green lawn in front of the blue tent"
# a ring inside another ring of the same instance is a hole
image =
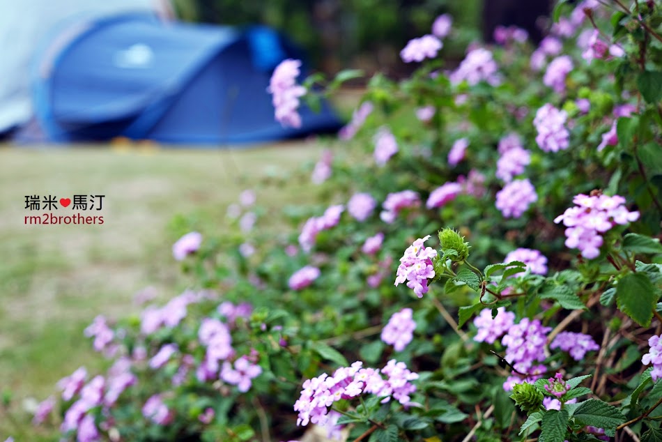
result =
[[[241,190],[286,176],[319,152],[305,142],[243,151],[0,147],[0,390],[14,397],[12,413],[0,410],[0,440],[33,440],[22,413],[30,398],[52,394],[80,365],[98,366],[82,335],[95,315],[137,311],[132,298],[144,287],[164,298],[185,287],[171,256],[173,217],[213,234]],[[293,182],[258,199],[277,207],[307,189],[309,182]],[[26,195],[79,194],[105,195],[102,211],[86,213],[103,215],[104,224],[24,224],[43,213],[24,208]]]

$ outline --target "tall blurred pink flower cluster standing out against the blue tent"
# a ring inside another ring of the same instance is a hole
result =
[[[296,84],[300,60],[286,59],[276,66],[269,82],[268,91],[273,94],[276,121],[283,126],[301,127],[298,114],[299,98],[305,96],[306,88]]]

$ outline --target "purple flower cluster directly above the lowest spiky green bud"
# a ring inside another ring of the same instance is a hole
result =
[[[501,340],[506,347],[505,359],[521,373],[529,375],[529,378],[537,379],[545,372],[544,365],[534,366],[534,362],[545,359],[545,344],[547,333],[551,327],[544,327],[538,319],[523,318],[518,324],[512,326],[507,335]],[[535,379],[533,379],[535,380]],[[504,389],[509,390],[513,383],[527,381],[518,376],[510,376],[504,383]]]

